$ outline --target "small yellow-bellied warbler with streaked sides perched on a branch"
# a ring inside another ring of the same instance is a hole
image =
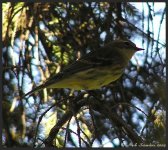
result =
[[[144,49],[130,40],[114,40],[76,60],[24,97],[44,88],[99,89],[120,78],[131,57],[140,50]]]

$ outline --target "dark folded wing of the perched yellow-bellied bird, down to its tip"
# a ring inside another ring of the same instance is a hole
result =
[[[92,51],[81,59],[75,61],[74,63],[68,65],[62,72],[52,76],[46,81],[49,86],[53,82],[57,82],[60,79],[68,78],[69,75],[73,75],[80,71],[85,71],[95,67],[108,66],[108,65],[120,65],[120,55],[116,51],[107,51],[106,48],[111,48],[110,45],[99,48],[97,51]],[[115,55],[115,57],[114,57]]]

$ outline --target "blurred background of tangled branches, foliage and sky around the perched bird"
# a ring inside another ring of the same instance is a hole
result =
[[[7,2],[2,11],[4,147],[165,147],[165,3]],[[117,38],[145,51],[116,82],[22,98]]]

